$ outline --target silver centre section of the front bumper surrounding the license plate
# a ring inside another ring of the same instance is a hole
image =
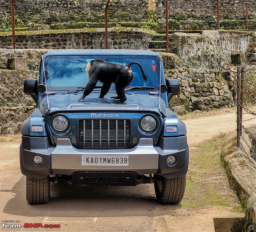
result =
[[[129,155],[129,166],[82,166],[82,155]],[[153,139],[141,138],[134,149],[78,150],[69,139],[57,139],[52,152],[52,171],[54,174],[71,175],[75,171],[135,171],[141,174],[156,173],[158,152]]]

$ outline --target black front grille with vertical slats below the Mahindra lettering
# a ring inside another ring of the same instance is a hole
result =
[[[82,148],[127,148],[130,138],[130,120],[79,120],[79,142]]]

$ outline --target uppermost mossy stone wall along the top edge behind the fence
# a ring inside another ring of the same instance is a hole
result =
[[[28,23],[38,27],[47,25],[50,29],[68,29],[104,26],[106,1],[69,0],[15,0],[15,26],[26,29]],[[217,27],[216,0],[174,1],[169,0],[169,28],[171,30],[204,30]],[[245,25],[243,1],[220,1],[220,26],[235,30]],[[241,12],[241,13],[240,13]],[[249,2],[249,27],[255,30],[255,5]],[[232,20],[230,20],[232,19]],[[112,26],[122,22],[139,22],[138,27],[165,27],[165,0],[112,0],[108,7],[108,22]],[[147,24],[147,22],[149,22]],[[146,24],[144,24],[146,23]],[[129,25],[132,26],[132,25]],[[0,29],[10,31],[10,1],[0,2]]]

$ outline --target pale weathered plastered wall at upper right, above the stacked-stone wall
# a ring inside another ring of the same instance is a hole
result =
[[[197,69],[223,69],[230,65],[231,54],[245,55],[252,32],[202,31],[202,33],[173,33],[169,37],[170,52],[180,57],[180,66]]]

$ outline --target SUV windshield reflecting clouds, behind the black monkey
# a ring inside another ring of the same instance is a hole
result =
[[[131,62],[138,62],[143,67],[148,83],[143,80],[140,67],[136,64],[131,66],[133,80],[130,86],[149,86],[158,90],[159,86],[159,61],[156,56],[140,55],[60,55],[47,56],[45,58],[45,72],[47,76],[47,89],[71,90],[76,87],[85,86],[88,82],[88,76],[85,71],[86,65],[92,60],[105,60],[106,62],[127,65]],[[43,78],[43,69],[41,69],[41,78]],[[43,79],[44,80],[44,79]],[[44,81],[43,81],[44,83]],[[100,82],[97,86],[101,86]],[[110,91],[115,91],[115,84],[112,83]],[[151,90],[152,91],[152,90]]]

